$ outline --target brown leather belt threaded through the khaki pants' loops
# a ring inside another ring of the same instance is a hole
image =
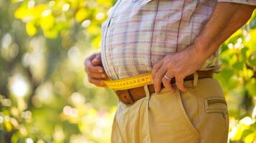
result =
[[[212,78],[213,72],[212,71],[196,71],[198,74],[198,79],[204,79],[204,78]],[[194,80],[194,74],[189,75],[184,79],[184,81]],[[171,80],[171,84],[175,83],[175,79]],[[161,87],[163,87],[163,84],[161,84]],[[153,84],[148,85],[148,91],[150,94],[155,93],[155,88],[153,87]],[[120,102],[123,102],[124,104],[133,104],[138,99],[142,99],[143,97],[146,97],[146,92],[144,90],[144,87],[136,87],[133,89],[126,89],[126,90],[119,90],[115,91],[115,93],[118,95],[118,99]]]

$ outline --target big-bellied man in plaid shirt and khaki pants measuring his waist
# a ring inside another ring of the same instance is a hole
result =
[[[85,60],[88,79],[105,87],[108,78],[151,72],[153,89],[116,92],[111,141],[227,142],[227,103],[212,72],[219,70],[217,49],[250,19],[255,5],[256,0],[119,0],[103,24],[101,53]]]

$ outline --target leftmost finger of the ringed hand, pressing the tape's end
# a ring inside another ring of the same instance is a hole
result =
[[[161,82],[165,73],[166,73],[166,68],[164,66],[161,66],[161,68],[156,72],[154,76],[153,84],[154,84],[156,93],[159,93],[161,91]]]

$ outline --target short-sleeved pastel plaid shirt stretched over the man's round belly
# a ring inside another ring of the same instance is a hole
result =
[[[110,79],[150,72],[167,54],[191,45],[217,2],[256,0],[118,0],[102,25],[101,57]],[[219,69],[217,52],[200,70]]]

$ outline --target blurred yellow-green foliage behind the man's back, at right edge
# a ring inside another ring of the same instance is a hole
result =
[[[256,142],[256,12],[219,50],[216,74],[229,104],[231,142]]]

